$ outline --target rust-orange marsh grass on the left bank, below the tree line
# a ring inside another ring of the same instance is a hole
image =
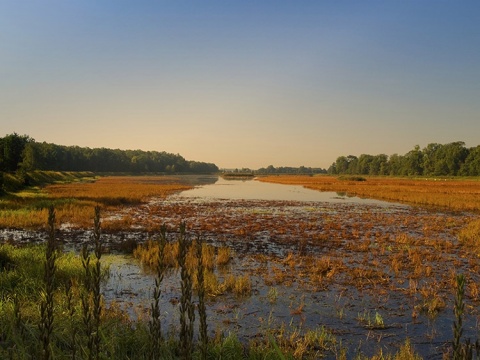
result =
[[[49,206],[54,205],[58,224],[89,228],[95,206],[111,213],[144,203],[149,198],[165,198],[167,195],[190,189],[173,176],[116,176],[91,178],[33,188],[5,197],[0,202],[0,227],[20,229],[44,228]],[[119,230],[130,227],[129,216],[105,219],[103,228]]]

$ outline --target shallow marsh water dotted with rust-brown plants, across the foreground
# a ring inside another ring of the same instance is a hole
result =
[[[174,239],[185,221],[192,238],[231,247],[232,261],[216,270],[218,276],[248,274],[252,293],[209,298],[212,335],[232,331],[249,341],[267,330],[305,332],[324,326],[352,357],[380,348],[393,352],[409,338],[423,357],[442,358],[453,339],[458,273],[467,278],[464,334],[477,336],[479,254],[457,239],[473,218],[388,203],[171,196],[104,214],[106,223],[128,219],[132,225],[105,229],[102,239],[112,249],[141,243],[155,237],[163,223]],[[58,235],[65,248],[78,248],[91,236],[68,225]],[[105,298],[132,317],[148,317],[153,277],[131,257],[119,259],[110,264]],[[178,274],[166,276],[162,287],[164,328],[175,328]],[[332,351],[325,355],[333,357]]]

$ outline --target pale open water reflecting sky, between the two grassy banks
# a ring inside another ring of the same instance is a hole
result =
[[[182,198],[197,198],[201,201],[226,200],[278,200],[317,201],[328,203],[353,202],[357,204],[391,205],[385,201],[362,199],[347,193],[316,191],[299,185],[265,183],[257,180],[226,180],[217,177],[214,183],[200,184],[191,190],[176,195]]]

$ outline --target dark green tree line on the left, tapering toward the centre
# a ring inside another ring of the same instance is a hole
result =
[[[63,146],[16,133],[0,138],[0,171],[31,170],[214,173],[218,167],[164,151]]]

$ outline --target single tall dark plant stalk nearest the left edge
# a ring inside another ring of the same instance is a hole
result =
[[[48,240],[45,251],[45,272],[43,282],[45,293],[40,305],[41,321],[40,337],[42,342],[42,358],[51,359],[50,336],[53,332],[53,295],[55,291],[55,271],[56,271],[56,248],[55,248],[55,209],[50,207],[48,212]]]

